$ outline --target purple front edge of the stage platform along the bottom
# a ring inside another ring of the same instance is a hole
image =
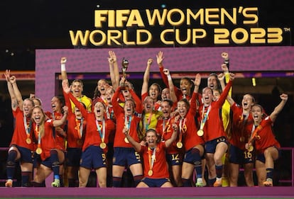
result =
[[[294,198],[293,187],[0,188],[0,198]]]

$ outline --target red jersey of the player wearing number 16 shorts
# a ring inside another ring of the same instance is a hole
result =
[[[233,113],[232,120],[232,134],[229,137],[229,142],[238,147],[239,149],[244,150],[245,144],[248,142],[251,132],[246,131],[246,125],[252,125],[253,118],[252,115],[243,115],[243,108],[238,104],[234,103],[231,106]]]

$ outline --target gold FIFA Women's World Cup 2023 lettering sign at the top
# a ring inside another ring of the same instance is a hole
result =
[[[258,7],[94,11],[94,30],[70,30],[73,46],[285,45],[290,28],[260,27]]]

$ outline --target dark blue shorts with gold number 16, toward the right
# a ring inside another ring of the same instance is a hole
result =
[[[254,163],[254,152],[242,150],[231,145],[229,147],[229,162],[233,164],[249,164]]]

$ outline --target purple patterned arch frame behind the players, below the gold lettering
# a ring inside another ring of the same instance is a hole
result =
[[[120,62],[129,60],[127,72],[144,72],[148,58],[153,58],[151,72],[158,72],[156,54],[164,53],[163,64],[171,72],[215,72],[220,70],[222,52],[229,52],[234,72],[293,71],[294,47],[168,47],[115,49],[36,50],[36,96],[43,108],[50,110],[55,96],[55,74],[60,73],[60,58],[67,57],[68,73],[109,72],[108,51]],[[120,64],[119,64],[119,67]]]

